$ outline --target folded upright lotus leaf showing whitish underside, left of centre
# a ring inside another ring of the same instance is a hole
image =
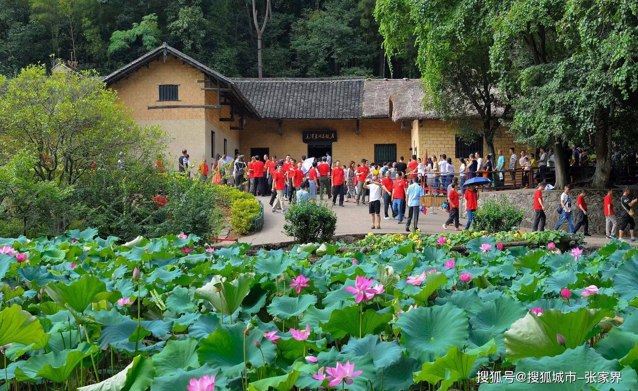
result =
[[[254,281],[255,274],[253,273],[239,274],[233,281],[214,276],[211,282],[195,290],[195,299],[208,300],[218,311],[232,314],[241,306]],[[217,291],[218,288],[219,291]]]

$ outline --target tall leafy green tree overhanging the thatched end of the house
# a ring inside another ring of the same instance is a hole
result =
[[[490,64],[492,13],[486,3],[474,0],[378,0],[375,10],[388,55],[402,54],[410,34],[415,36],[426,108],[469,124],[459,135],[482,134],[494,154],[494,135],[511,105],[497,91],[498,75]],[[479,119],[478,126],[473,119]]]

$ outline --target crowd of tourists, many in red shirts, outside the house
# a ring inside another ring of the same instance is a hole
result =
[[[595,160],[584,148],[574,146],[572,150],[572,166],[588,167],[592,160]],[[614,156],[619,159],[618,154]],[[186,150],[182,151],[178,165],[179,171],[191,175],[191,162]],[[482,158],[480,152],[475,152],[467,159],[457,158],[457,166],[445,154],[433,154],[430,157],[426,155],[424,160],[412,155],[407,162],[401,156],[396,162],[382,164],[369,163],[367,159],[361,159],[360,163],[351,160],[343,164],[339,160],[333,161],[329,153],[311,159],[301,156],[299,161],[290,155],[282,159],[267,154],[246,159],[238,154],[235,159],[218,155],[210,169],[206,159],[203,159],[197,170],[203,180],[207,180],[211,173],[212,182],[232,184],[255,196],[270,197],[272,213],[281,210],[285,214],[286,203],[290,206],[295,202],[316,202],[326,197],[327,200],[332,200],[332,205],[339,207],[345,206],[345,202],[368,205],[371,229],[381,228],[383,209],[383,219],[396,219],[399,225],[403,224],[405,219],[405,230],[409,232],[410,225],[413,230],[418,229],[419,214],[424,212],[424,195],[440,195],[445,200],[442,208],[449,213],[447,221],[443,224],[445,230],[450,226],[454,226],[455,230],[461,230],[459,217],[461,203],[464,202],[467,212],[464,229],[467,230],[471,223],[475,222],[479,186],[482,189],[489,186],[505,186],[506,181],[516,182],[517,178],[520,178],[519,183],[525,187],[537,187],[534,195],[534,230],[544,230],[546,216],[542,191],[551,189],[548,182],[553,179],[554,168],[555,158],[552,149],[545,151],[544,148],[540,148],[538,154],[528,154],[523,149],[517,154],[512,147],[507,157],[500,149],[496,158],[491,154]],[[490,181],[479,186],[464,186],[466,181],[475,177],[488,178]],[[578,232],[582,228],[584,235],[588,236],[590,233],[586,190],[583,189],[577,197],[576,207],[573,209],[569,189],[570,186],[565,186],[560,205],[556,209],[560,214],[560,220],[555,229],[558,230],[567,222],[570,233]],[[609,239],[623,240],[628,228],[630,240],[633,242],[635,237],[632,207],[638,200],[630,199],[628,188],[623,190],[618,224],[611,195],[612,191],[609,189],[604,202],[606,236]],[[576,213],[579,221],[574,224],[573,216]]]

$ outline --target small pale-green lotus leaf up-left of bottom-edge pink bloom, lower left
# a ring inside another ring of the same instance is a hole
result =
[[[197,341],[182,339],[167,341],[165,348],[152,357],[155,376],[170,376],[177,369],[194,369],[200,366],[197,360]]]

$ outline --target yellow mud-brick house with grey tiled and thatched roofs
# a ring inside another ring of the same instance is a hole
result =
[[[426,151],[486,153],[482,138],[468,144],[450,122],[423,110],[414,79],[228,78],[164,43],[102,80],[140,124],[172,137],[172,156],[186,149],[193,162],[217,154],[328,152],[333,160],[382,162]],[[513,138],[500,131],[494,147],[511,146]]]

